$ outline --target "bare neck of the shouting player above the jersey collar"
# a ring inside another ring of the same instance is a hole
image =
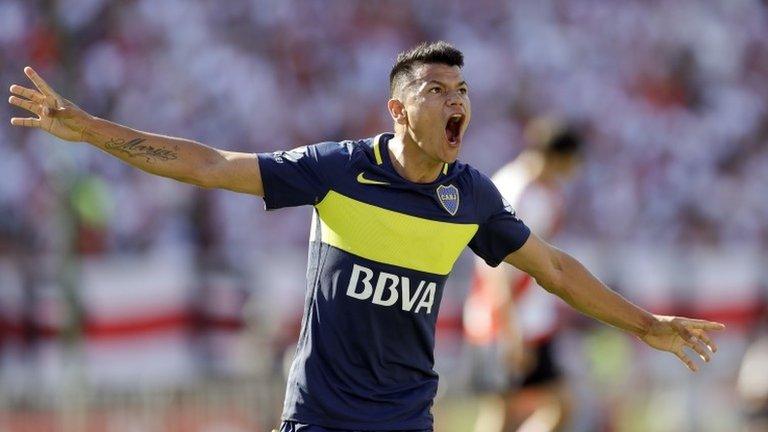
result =
[[[392,166],[404,179],[414,183],[431,183],[440,176],[444,163],[429,157],[416,142],[401,134],[387,145]]]

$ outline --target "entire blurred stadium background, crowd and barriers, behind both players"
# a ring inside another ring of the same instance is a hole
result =
[[[692,377],[575,320],[562,342],[583,396],[573,430],[731,431],[764,418],[764,1],[0,0],[0,82],[31,85],[32,65],[93,115],[272,151],[390,130],[389,69],[435,39],[465,54],[462,160],[490,174],[525,147],[531,120],[578,124],[585,167],[555,243],[645,307],[730,324],[715,364]],[[24,115],[0,106],[0,429],[274,424],[309,210],[268,214],[255,197],[151,177],[11,128],[12,116]],[[438,371],[464,364],[471,263],[443,297]],[[466,430],[451,420],[472,413],[464,375],[443,378],[438,431]],[[192,411],[213,414],[168,420]]]

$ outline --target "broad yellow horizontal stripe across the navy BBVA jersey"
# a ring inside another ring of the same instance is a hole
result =
[[[323,243],[371,261],[439,275],[450,273],[478,228],[383,209],[335,191],[316,207]]]

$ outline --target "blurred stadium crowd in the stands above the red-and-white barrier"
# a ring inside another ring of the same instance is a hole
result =
[[[765,1],[0,0],[0,82],[32,65],[96,116],[272,151],[390,130],[392,62],[434,39],[466,56],[462,160],[490,174],[532,119],[579,125],[566,240],[768,253]],[[0,119],[19,115],[0,105]],[[64,251],[185,249],[203,267],[274,272],[253,251],[307,241],[306,209],[267,215],[255,197],[21,128],[0,127],[0,151],[0,261],[31,283]],[[446,301],[441,314],[456,309]]]

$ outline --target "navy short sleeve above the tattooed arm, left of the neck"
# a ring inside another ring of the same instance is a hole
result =
[[[259,153],[259,170],[267,210],[320,202],[332,177],[332,159],[341,149],[335,142],[299,147],[289,151]]]

